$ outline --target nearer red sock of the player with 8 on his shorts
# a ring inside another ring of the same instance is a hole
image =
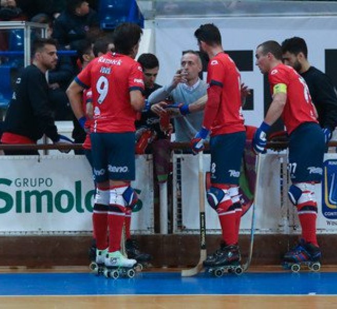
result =
[[[239,238],[237,230],[237,214],[233,209],[233,203],[229,199],[219,204],[217,213],[219,214],[222,238],[226,245],[236,244]]]

